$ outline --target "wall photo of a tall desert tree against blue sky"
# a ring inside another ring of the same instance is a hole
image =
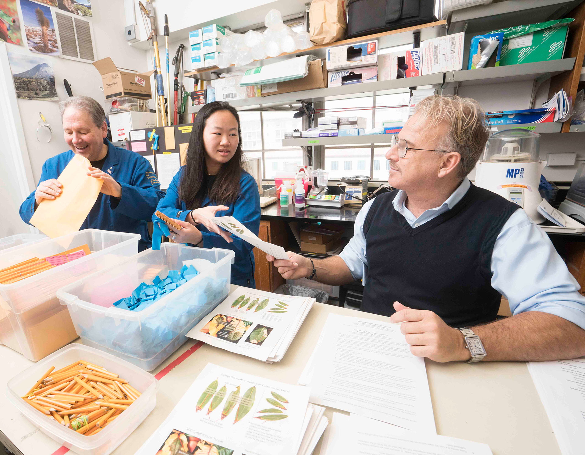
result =
[[[20,9],[29,49],[39,54],[58,56],[59,43],[49,6],[20,0]]]

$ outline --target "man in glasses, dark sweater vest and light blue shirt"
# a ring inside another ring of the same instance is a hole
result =
[[[585,355],[585,298],[523,209],[467,179],[488,137],[476,101],[421,101],[386,158],[395,191],[364,205],[339,256],[274,260],[284,278],[362,278],[362,311],[390,316],[416,356],[557,360]],[[512,316],[495,320],[501,295]]]

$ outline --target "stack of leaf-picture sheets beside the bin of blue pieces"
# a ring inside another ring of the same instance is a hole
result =
[[[187,333],[226,351],[280,361],[315,299],[239,287]]]

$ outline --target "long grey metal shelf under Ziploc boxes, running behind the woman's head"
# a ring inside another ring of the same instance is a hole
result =
[[[404,92],[404,89],[409,87],[442,84],[442,82],[443,73],[436,73],[394,79],[391,81],[367,82],[366,84],[350,84],[342,85],[342,87],[316,88],[280,95],[236,99],[235,101],[230,101],[229,104],[239,111],[270,111],[282,106],[287,106],[288,110],[293,110],[300,105],[301,100],[316,102],[331,101],[332,99],[360,98],[362,96],[387,95]],[[188,111],[194,113],[198,112],[199,109],[201,109],[201,106],[189,106]]]

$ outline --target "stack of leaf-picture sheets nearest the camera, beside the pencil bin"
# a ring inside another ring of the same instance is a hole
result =
[[[136,452],[309,455],[328,420],[307,387],[207,364]]]

